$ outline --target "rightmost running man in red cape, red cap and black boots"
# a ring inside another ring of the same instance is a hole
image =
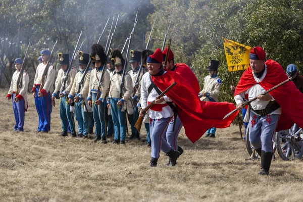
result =
[[[260,46],[251,49],[250,67],[242,74],[235,89],[234,99],[237,109],[241,109],[245,94],[248,94],[248,99],[258,96],[257,100],[250,103],[250,112],[248,109],[246,113],[249,116],[249,141],[261,156],[259,174],[268,175],[275,131],[289,129],[294,122],[303,127],[303,117],[297,113],[303,110],[303,106],[293,102],[303,100],[303,94],[293,82],[287,82],[268,94],[260,95],[287,79],[282,67],[273,60],[266,60],[265,57],[265,51]]]

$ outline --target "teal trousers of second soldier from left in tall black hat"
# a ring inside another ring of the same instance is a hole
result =
[[[84,112],[84,101],[80,100],[75,103],[75,116],[78,122],[78,133],[84,136],[88,133],[89,112]]]

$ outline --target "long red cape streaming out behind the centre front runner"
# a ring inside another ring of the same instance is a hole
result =
[[[151,76],[151,79],[162,91],[173,82],[177,83],[166,95],[178,107],[178,116],[183,123],[185,134],[193,143],[212,127],[229,127],[238,114],[234,113],[223,120],[226,114],[235,109],[234,104],[201,101],[190,83],[174,71],[167,71],[161,76]]]

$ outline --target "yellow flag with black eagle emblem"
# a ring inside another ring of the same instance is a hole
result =
[[[249,67],[249,52],[251,47],[223,38],[228,71],[245,70]]]

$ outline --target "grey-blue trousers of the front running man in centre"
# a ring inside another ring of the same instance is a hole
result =
[[[169,146],[167,141],[162,137],[171,119],[172,117],[151,119],[151,122],[149,124],[149,132],[151,138],[150,156],[152,158],[159,159],[161,150],[165,154],[167,154],[171,150],[171,147]]]

